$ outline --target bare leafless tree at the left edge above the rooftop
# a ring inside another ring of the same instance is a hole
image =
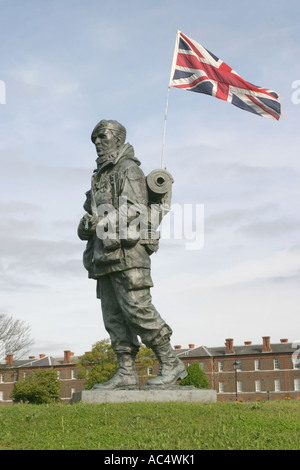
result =
[[[0,314],[0,359],[8,354],[21,357],[32,344],[30,327],[24,321]]]

